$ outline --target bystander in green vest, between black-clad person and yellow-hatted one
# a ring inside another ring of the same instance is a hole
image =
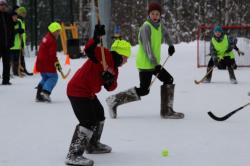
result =
[[[22,28],[22,22],[18,19],[18,15],[15,11],[12,12],[12,19],[14,22],[14,46],[10,48],[11,54],[11,66],[13,75],[21,76],[20,66],[19,66],[19,57],[21,53],[21,41],[22,41],[22,34],[24,33],[24,29]]]

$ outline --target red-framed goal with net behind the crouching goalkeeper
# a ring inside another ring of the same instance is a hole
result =
[[[201,25],[197,31],[197,67],[206,67],[210,59],[210,40],[214,26]],[[250,67],[250,26],[222,26],[224,32],[237,38],[237,47],[244,55],[234,50],[238,67]]]

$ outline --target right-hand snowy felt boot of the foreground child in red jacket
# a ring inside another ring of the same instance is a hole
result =
[[[102,154],[110,153],[112,148],[108,145],[102,144],[100,142],[102,131],[103,131],[104,121],[99,122],[94,126],[93,136],[89,141],[89,144],[86,148],[86,153],[88,154]]]

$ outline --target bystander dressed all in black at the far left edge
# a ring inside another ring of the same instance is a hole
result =
[[[0,58],[3,62],[3,85],[10,83],[10,48],[14,44],[14,23],[6,0],[0,0]]]

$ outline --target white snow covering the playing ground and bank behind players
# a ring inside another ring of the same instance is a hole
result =
[[[224,122],[211,119],[249,102],[249,69],[235,71],[239,84],[231,84],[227,71],[215,70],[211,84],[195,85],[205,68],[196,67],[196,42],[176,45],[176,53],[165,67],[176,84],[174,109],[185,113],[183,120],[161,119],[160,85],[157,80],[150,94],[141,101],[122,105],[118,118],[110,119],[105,98],[138,86],[135,54],[120,68],[119,86],[113,92],[103,89],[106,123],[102,142],[112,146],[110,154],[85,155],[96,166],[247,166],[250,164],[249,107]],[[167,46],[162,46],[162,60]],[[64,57],[59,53],[60,61]],[[31,71],[35,58],[26,58]],[[85,59],[71,60],[73,73]],[[0,67],[2,70],[2,65]],[[67,66],[63,66],[66,71]],[[0,166],[62,166],[77,120],[66,96],[69,79],[59,79],[52,103],[36,103],[35,86],[39,75],[15,77],[12,86],[0,85]],[[168,157],[161,151],[167,148]]]

